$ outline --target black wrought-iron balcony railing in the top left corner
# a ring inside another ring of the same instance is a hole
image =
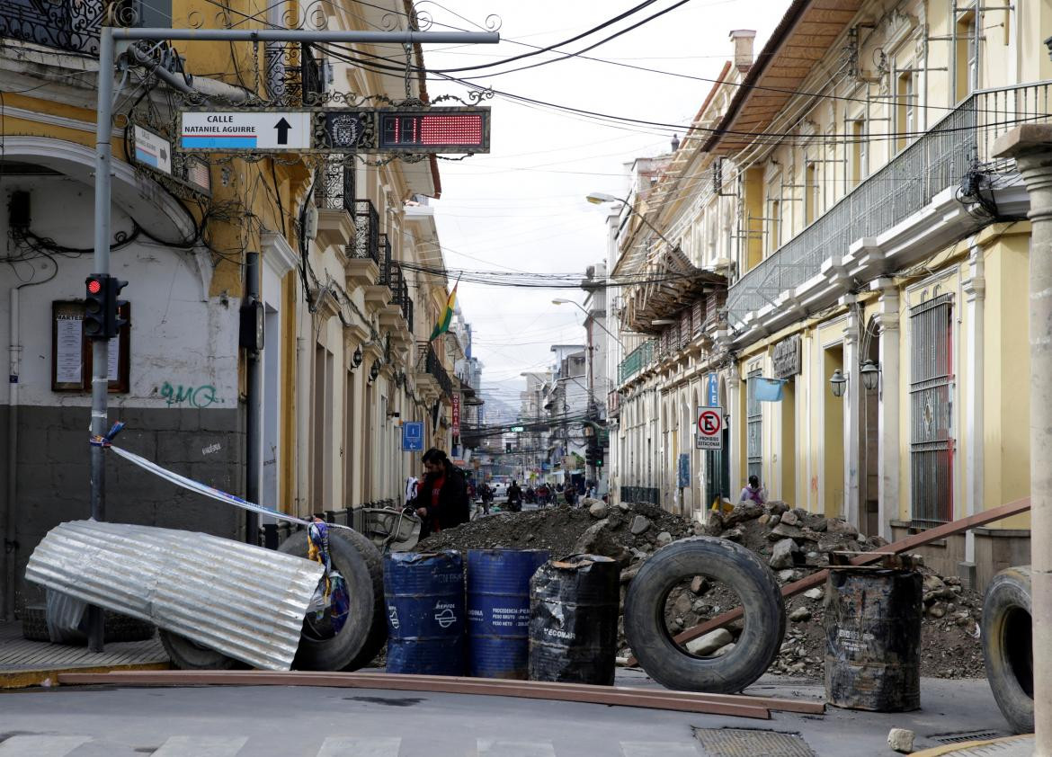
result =
[[[0,38],[98,56],[99,25],[108,5],[107,0],[3,0]]]

